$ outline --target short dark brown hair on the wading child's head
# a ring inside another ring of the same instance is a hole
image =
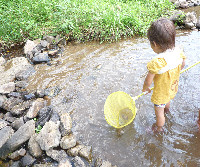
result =
[[[160,18],[153,22],[147,32],[149,41],[151,43],[154,41],[163,51],[175,47],[175,36],[174,23],[166,18]]]

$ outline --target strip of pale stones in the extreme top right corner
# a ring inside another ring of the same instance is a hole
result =
[[[200,0],[170,0],[174,3],[176,8],[189,8],[193,6],[200,6]]]

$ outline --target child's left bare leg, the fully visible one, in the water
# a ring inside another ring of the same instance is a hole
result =
[[[165,124],[165,116],[164,116],[164,108],[154,106],[155,114],[156,114],[156,125],[157,131],[162,131],[162,127]]]

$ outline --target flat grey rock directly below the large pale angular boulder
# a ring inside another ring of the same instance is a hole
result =
[[[50,149],[46,151],[46,154],[57,162],[65,161],[68,159],[68,156],[64,150],[58,151]]]

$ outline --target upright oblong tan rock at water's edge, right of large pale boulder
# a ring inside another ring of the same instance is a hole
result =
[[[66,136],[71,132],[72,119],[68,113],[62,113],[60,115],[60,132],[62,136]]]

